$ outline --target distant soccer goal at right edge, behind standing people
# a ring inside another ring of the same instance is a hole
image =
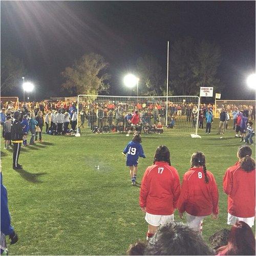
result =
[[[230,118],[233,118],[232,112],[234,109],[247,110],[249,116],[253,114],[254,106],[254,115],[255,115],[255,100],[226,100],[226,99],[216,99],[215,100],[215,118],[220,117],[221,109],[225,108],[229,113]]]

